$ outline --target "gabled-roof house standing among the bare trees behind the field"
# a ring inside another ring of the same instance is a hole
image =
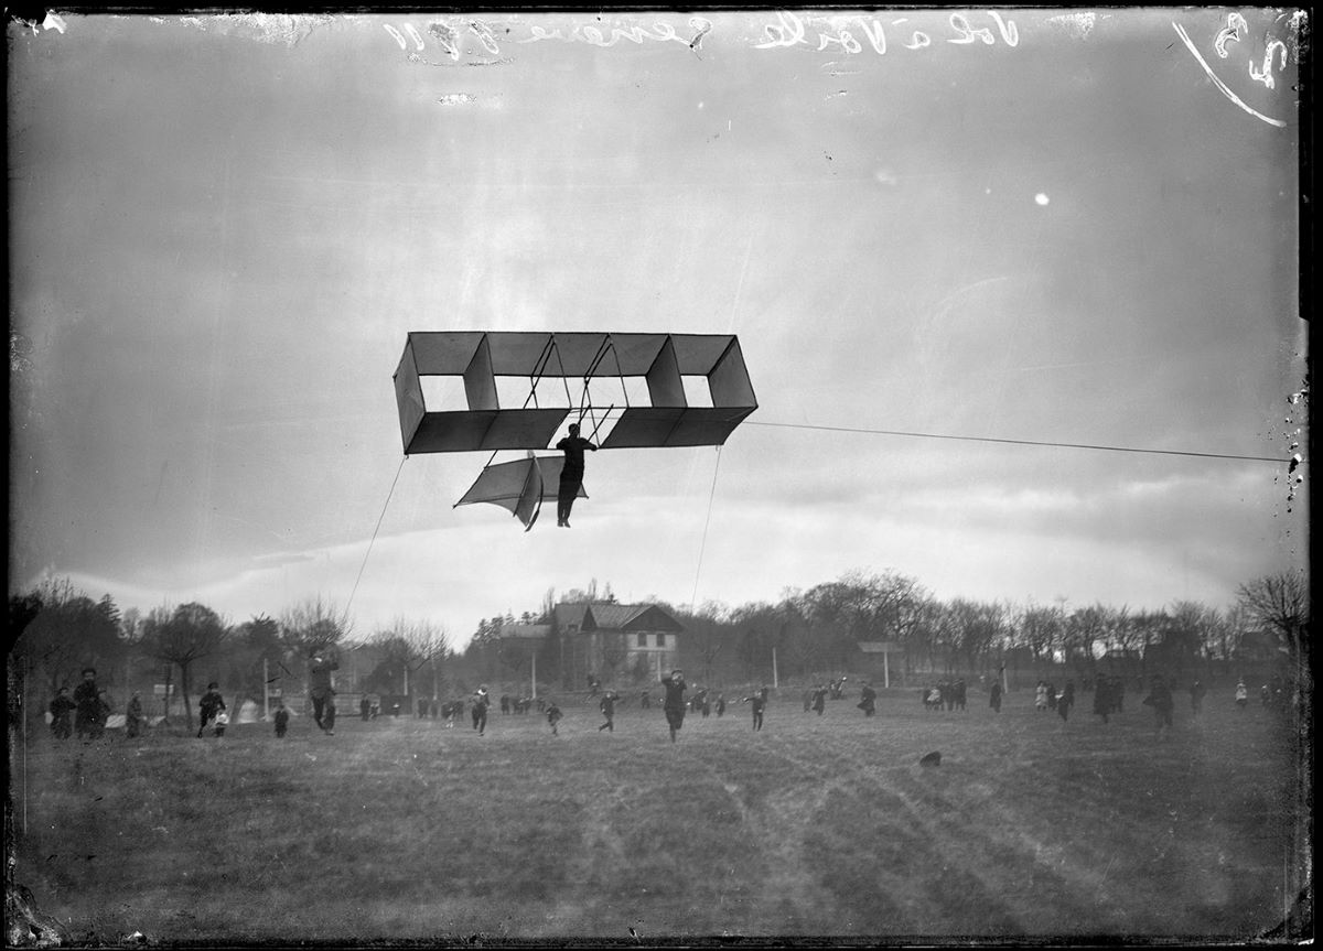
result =
[[[568,684],[587,685],[660,679],[679,657],[684,626],[658,604],[564,603],[552,624],[561,638]]]

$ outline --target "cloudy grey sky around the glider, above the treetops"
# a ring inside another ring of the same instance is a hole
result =
[[[1299,29],[11,22],[9,590],[320,598],[456,647],[594,582],[1226,607],[1307,567]],[[759,406],[720,448],[590,455],[573,529],[525,533],[454,508],[490,454],[404,455],[392,374],[447,329],[734,333]]]

